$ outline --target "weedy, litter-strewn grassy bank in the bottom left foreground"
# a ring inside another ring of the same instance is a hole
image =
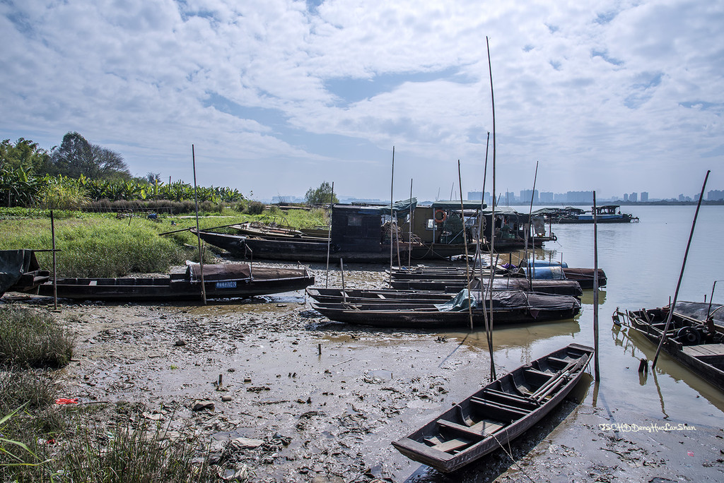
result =
[[[71,354],[51,315],[0,307],[0,482],[215,481],[200,448],[168,440],[141,409],[56,404],[53,369]]]

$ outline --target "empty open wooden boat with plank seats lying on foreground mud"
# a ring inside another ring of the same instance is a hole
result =
[[[518,367],[392,446],[445,473],[463,468],[552,411],[581,379],[593,351],[572,343]]]

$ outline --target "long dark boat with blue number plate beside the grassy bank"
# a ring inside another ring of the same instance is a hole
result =
[[[247,263],[203,265],[207,299],[251,297],[300,290],[314,283],[306,268],[276,268]],[[138,278],[59,278],[57,294],[64,299],[101,301],[200,300],[201,268],[189,265],[185,273]],[[35,288],[53,296],[53,282]]]

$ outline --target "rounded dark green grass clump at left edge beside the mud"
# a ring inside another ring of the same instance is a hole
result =
[[[0,307],[0,365],[63,367],[72,347],[70,333],[46,312]]]

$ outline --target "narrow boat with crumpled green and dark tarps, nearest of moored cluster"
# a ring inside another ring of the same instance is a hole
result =
[[[467,327],[471,307],[473,327],[484,328],[483,309],[490,310],[490,300],[481,301],[477,291],[463,289],[444,304],[400,300],[391,302],[312,302],[311,307],[337,322],[376,327],[429,329]],[[523,291],[493,291],[492,311],[496,326],[564,320],[575,317],[581,302],[573,296],[536,294]]]

